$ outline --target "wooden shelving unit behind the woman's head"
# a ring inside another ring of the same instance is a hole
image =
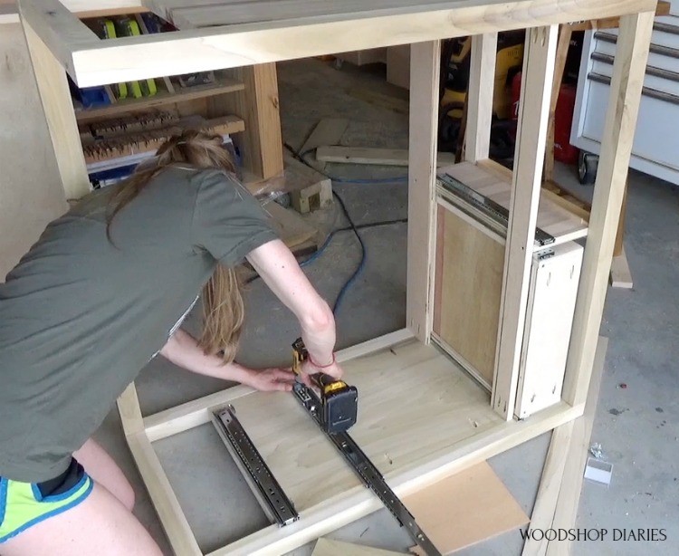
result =
[[[167,33],[148,34],[147,25],[141,18],[145,12],[148,10],[129,6],[129,9],[120,7],[82,12],[79,15],[80,23],[84,24],[93,36],[97,36],[94,29],[100,18],[129,17],[138,22],[142,35],[102,41],[105,43],[166,35]],[[178,26],[173,22],[168,24]],[[176,70],[174,67],[172,69]],[[177,70],[179,75],[157,75],[150,78],[155,79],[158,88],[158,91],[150,96],[116,98],[113,92],[115,83],[110,83],[105,85],[110,104],[84,107],[80,101],[72,99],[70,104],[80,140],[64,146],[63,149],[70,157],[76,150],[83,153],[81,161],[73,161],[73,168],[84,167],[87,171],[95,171],[95,167],[98,171],[102,166],[109,170],[117,167],[133,168],[129,165],[139,162],[144,153],[158,149],[166,137],[162,130],[165,128],[151,126],[149,129],[130,133],[129,129],[121,126],[120,133],[110,134],[101,139],[91,132],[90,126],[106,123],[108,120],[114,125],[114,120],[130,115],[139,116],[142,120],[144,118],[153,120],[158,111],[163,110],[176,114],[181,120],[180,124],[167,127],[167,137],[186,125],[229,135],[239,150],[243,174],[248,182],[261,183],[263,180],[282,175],[281,121],[275,64],[263,63],[225,70],[211,69],[214,81],[188,86],[181,86],[179,80],[186,74],[194,72],[183,72],[180,68]],[[60,115],[61,117],[70,120],[68,115]],[[214,127],[205,123],[211,121],[217,122],[218,125]],[[99,144],[93,145],[93,142],[97,141]],[[124,174],[129,170],[121,171]],[[77,198],[86,193],[91,184],[88,181],[77,187],[73,185],[66,187],[71,188],[66,191],[67,197]]]

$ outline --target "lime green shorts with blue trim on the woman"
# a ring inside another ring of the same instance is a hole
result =
[[[77,506],[93,482],[75,459],[58,477],[43,483],[20,483],[0,477],[0,544],[36,523]]]

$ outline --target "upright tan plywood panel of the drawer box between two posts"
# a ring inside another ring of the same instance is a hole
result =
[[[439,206],[435,332],[493,384],[504,244]]]

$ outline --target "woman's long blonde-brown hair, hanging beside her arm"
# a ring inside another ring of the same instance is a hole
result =
[[[140,168],[110,198],[106,235],[120,211],[165,168],[185,164],[192,168],[222,168],[235,173],[234,160],[222,146],[222,137],[190,129],[167,139],[154,163]],[[203,332],[198,343],[208,355],[222,352],[225,364],[234,360],[244,321],[244,303],[237,269],[217,264],[203,287]]]

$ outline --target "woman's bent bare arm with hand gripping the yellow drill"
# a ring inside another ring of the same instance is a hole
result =
[[[300,321],[301,338],[311,357],[303,366],[307,374],[324,372],[337,379],[342,369],[335,362],[335,318],[313,288],[290,249],[280,239],[263,244],[247,260],[272,292]]]

